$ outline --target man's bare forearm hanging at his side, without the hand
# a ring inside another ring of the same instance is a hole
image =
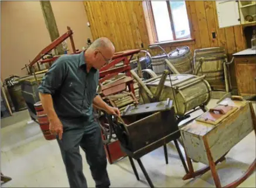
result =
[[[39,92],[39,98],[49,121],[56,119],[58,116],[53,107],[52,95]]]

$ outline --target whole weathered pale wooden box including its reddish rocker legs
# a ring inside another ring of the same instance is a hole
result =
[[[224,160],[224,156],[251,131],[256,130],[256,117],[252,103],[239,96],[227,98],[213,109],[197,117],[181,128],[185,145],[189,173],[183,179],[202,175],[211,169],[216,187],[221,187],[215,165]],[[256,132],[255,132],[256,133]],[[193,171],[191,159],[209,165],[208,168]],[[243,178],[228,184],[236,187],[255,169],[252,163]]]

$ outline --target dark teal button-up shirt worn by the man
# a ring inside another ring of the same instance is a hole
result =
[[[99,71],[86,71],[84,51],[59,57],[43,76],[39,92],[49,93],[60,119],[88,119],[93,116]]]

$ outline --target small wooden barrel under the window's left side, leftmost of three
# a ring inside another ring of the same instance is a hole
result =
[[[159,54],[151,57],[152,69],[156,75],[161,75],[165,69],[168,69],[165,65],[165,59],[167,59],[166,54]]]

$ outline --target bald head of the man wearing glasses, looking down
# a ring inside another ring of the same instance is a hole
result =
[[[115,47],[106,37],[96,39],[86,50],[86,61],[92,67],[100,69],[107,64],[115,53]]]

